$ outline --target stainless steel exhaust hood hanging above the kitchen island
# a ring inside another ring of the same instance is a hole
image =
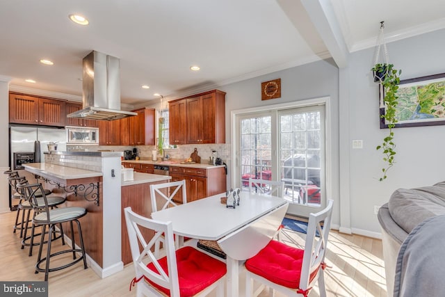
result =
[[[137,113],[120,110],[120,61],[92,51],[83,58],[82,102],[80,111],[67,118],[118,120]]]

